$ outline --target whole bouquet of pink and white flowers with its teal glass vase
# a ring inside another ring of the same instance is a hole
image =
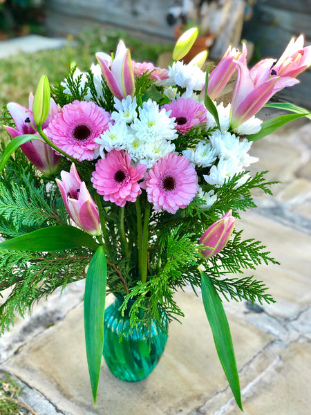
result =
[[[182,317],[174,293],[190,287],[202,302],[225,375],[241,393],[223,299],[274,302],[254,277],[232,277],[262,262],[276,264],[259,241],[234,225],[255,208],[252,190],[270,193],[265,172],[247,171],[248,152],[308,111],[261,122],[272,95],[298,82],[310,65],[303,37],[282,57],[247,68],[247,50],[229,48],[208,74],[206,55],[182,59],[196,37],[178,40],[168,69],[131,60],[120,41],[66,80],[41,77],[29,107],[10,102],[10,139],[1,146],[1,329],[16,312],[58,287],[86,278],[84,327],[93,398],[102,354],[120,379],[135,381],[156,366],[169,322]],[[232,103],[215,99],[234,71]],[[115,302],[105,311],[106,293]]]

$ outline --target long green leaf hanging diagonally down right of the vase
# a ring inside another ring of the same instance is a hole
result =
[[[227,317],[223,304],[211,284],[209,277],[202,271],[202,299],[205,308],[205,313],[211,326],[214,342],[218,357],[227,380],[234,394],[234,398],[238,407],[243,411],[241,403],[240,382],[238,380],[238,369],[236,369],[236,358],[234,356],[234,347],[232,344],[232,337],[229,329]]]

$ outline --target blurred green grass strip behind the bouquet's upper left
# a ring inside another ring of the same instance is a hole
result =
[[[132,58],[137,62],[153,62],[163,51],[172,50],[170,45],[149,44],[129,37],[120,30],[104,31],[100,28],[84,31],[76,39],[68,39],[64,48],[43,50],[37,53],[19,53],[0,59],[0,107],[8,102],[18,102],[28,107],[28,95],[35,93],[41,75],[48,76],[51,84],[60,82],[68,75],[70,62],[87,71],[96,63],[95,53],[115,51],[119,39],[124,39]]]

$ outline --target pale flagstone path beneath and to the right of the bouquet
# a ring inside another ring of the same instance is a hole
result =
[[[262,111],[262,117],[270,113]],[[311,124],[296,120],[252,147],[253,172],[268,169],[274,196],[255,194],[242,215],[245,238],[261,240],[281,262],[254,272],[276,304],[225,304],[246,415],[306,415],[311,404]],[[252,273],[245,273],[252,275]],[[220,367],[202,300],[178,293],[182,324],[173,322],[158,367],[146,380],[122,382],[102,361],[93,406],[84,349],[84,282],[17,317],[0,340],[0,372],[23,385],[39,415],[237,415]],[[111,299],[108,299],[108,302]],[[1,374],[1,373],[0,373]]]

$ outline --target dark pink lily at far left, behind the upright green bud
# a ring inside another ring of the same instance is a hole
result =
[[[33,134],[38,136],[39,134],[33,127],[35,122],[32,116],[32,101],[33,95],[29,97],[29,109],[23,107],[16,102],[9,102],[7,107],[14,122],[15,128],[4,125],[3,127],[10,134],[12,138],[22,136],[23,134]],[[44,122],[42,127],[47,127],[50,118],[53,118],[57,113],[57,104],[51,98],[50,113],[48,114],[47,120]],[[32,163],[41,173],[46,176],[55,174],[57,172],[61,156],[58,156],[55,151],[45,142],[41,140],[32,140],[21,145],[21,151],[26,155],[30,163]]]

